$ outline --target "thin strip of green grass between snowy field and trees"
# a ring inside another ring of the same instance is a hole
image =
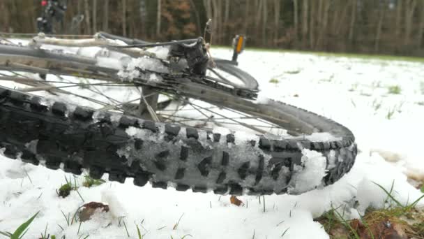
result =
[[[213,45],[213,48],[225,48],[232,49],[228,46],[223,45]],[[412,61],[412,62],[422,62],[424,63],[424,57],[407,57],[407,56],[394,56],[394,55],[373,55],[373,54],[358,54],[358,53],[345,53],[345,52],[313,52],[307,50],[286,50],[281,48],[250,48],[247,47],[245,50],[252,51],[261,51],[261,52],[287,52],[287,53],[298,53],[298,54],[307,54],[307,55],[317,55],[321,57],[347,57],[347,58],[357,58],[363,60],[384,60],[384,61]],[[243,53],[242,53],[243,55]],[[229,56],[231,57],[231,56]]]

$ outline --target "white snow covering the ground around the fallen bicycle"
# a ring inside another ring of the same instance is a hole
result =
[[[212,51],[222,58],[231,53]],[[329,187],[300,196],[271,195],[260,201],[240,196],[240,207],[230,204],[229,196],[152,189],[149,184],[135,187],[130,179],[125,184],[107,182],[81,187],[79,194],[86,202],[104,201],[115,210],[68,226],[62,211],[73,215],[83,204],[76,191],[67,198],[56,195],[68,174],[0,156],[0,231],[14,231],[40,211],[25,238],[39,237],[46,224],[56,238],[126,238],[125,227],[116,219],[124,215],[130,238],[137,238],[135,224],[144,238],[328,238],[313,218],[340,205],[347,219],[368,206],[382,207],[386,194],[373,182],[388,190],[394,184],[393,194],[401,203],[422,195],[407,177],[424,180],[423,63],[259,51],[246,51],[239,61],[259,81],[262,96],[351,129],[360,150],[351,172]],[[393,86],[400,87],[400,94],[389,93]]]

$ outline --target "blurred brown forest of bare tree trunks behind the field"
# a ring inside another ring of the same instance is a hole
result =
[[[325,52],[424,57],[423,0],[68,0],[72,34],[113,34],[167,41],[202,36],[213,20],[213,44],[234,34],[248,45]],[[41,0],[1,0],[0,31],[36,32]],[[70,34],[69,31],[64,33]]]

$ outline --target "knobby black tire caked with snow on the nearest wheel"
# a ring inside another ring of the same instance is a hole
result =
[[[328,173],[321,179],[322,186],[340,179],[353,166],[356,144],[344,126],[278,101],[244,101],[256,106],[257,112],[293,117],[298,119],[295,127],[327,131],[340,140],[269,140],[264,136],[239,140],[232,133],[220,135],[98,113],[61,102],[45,106],[38,96],[0,87],[0,148],[6,157],[47,168],[63,167],[75,174],[87,168],[93,178],[109,173],[109,180],[134,178],[138,186],[151,182],[164,189],[172,184],[181,191],[191,188],[233,195],[299,194],[319,186],[293,188],[296,175],[305,168],[305,149],[325,157]]]

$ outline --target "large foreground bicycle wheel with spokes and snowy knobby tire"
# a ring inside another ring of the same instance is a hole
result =
[[[158,73],[162,79],[152,80],[144,71],[128,81],[94,60],[15,48],[0,47],[1,69],[15,73],[1,78],[32,84],[31,91],[81,96],[67,92],[67,87],[144,85],[185,103],[202,118],[184,115],[184,107],[174,106],[159,110],[161,122],[153,122],[122,115],[122,102],[101,105],[86,97],[102,106],[95,110],[0,87],[0,147],[6,157],[76,174],[86,168],[93,178],[103,173],[119,182],[134,178],[139,186],[150,181],[153,187],[234,195],[300,194],[332,184],[354,164],[351,131],[306,110],[278,101],[253,101],[249,92],[198,82],[190,75]],[[79,74],[107,83],[66,85],[19,76],[28,71],[63,78]],[[323,140],[319,133],[330,137]]]

